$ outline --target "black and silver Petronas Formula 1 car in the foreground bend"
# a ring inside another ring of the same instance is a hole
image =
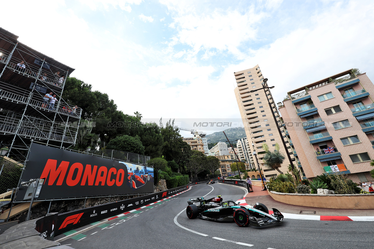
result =
[[[204,220],[214,221],[235,221],[239,227],[262,227],[274,223],[281,223],[283,215],[278,209],[273,208],[273,214],[264,204],[257,202],[253,208],[251,206],[240,206],[233,200],[222,201],[221,196],[205,200],[197,197],[188,200],[186,209],[187,217],[194,219],[199,217]],[[199,205],[193,203],[199,202]]]

